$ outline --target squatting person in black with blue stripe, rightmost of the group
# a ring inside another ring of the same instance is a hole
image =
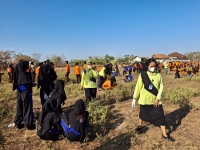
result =
[[[63,116],[61,126],[64,130],[64,136],[69,141],[83,142],[88,129],[89,113],[85,111],[82,99],[76,101],[73,111],[68,117]]]

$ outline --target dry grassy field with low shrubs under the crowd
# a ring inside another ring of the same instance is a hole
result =
[[[73,69],[71,69],[73,70]],[[59,79],[65,79],[64,68],[56,69]],[[174,73],[162,75],[164,82],[163,108],[167,128],[174,143],[161,139],[161,130],[145,123],[142,134],[137,134],[139,106],[132,108],[131,101],[137,75],[134,81],[124,83],[123,77],[117,77],[118,86],[113,90],[100,91],[97,101],[86,102],[90,113],[90,129],[84,143],[67,143],[64,139],[56,142],[41,140],[36,131],[14,127],[12,123],[16,111],[16,94],[11,84],[0,84],[0,149],[6,150],[198,150],[200,149],[200,77],[174,79]],[[68,113],[84,93],[75,82],[74,73],[70,73],[71,83],[65,86],[66,104],[62,106]],[[34,88],[33,104],[35,118],[41,110],[39,90]]]

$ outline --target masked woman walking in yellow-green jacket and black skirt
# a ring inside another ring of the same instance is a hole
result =
[[[133,99],[138,99],[140,104],[140,125],[138,131],[142,130],[143,121],[150,122],[155,126],[160,126],[162,138],[174,141],[166,133],[166,121],[161,102],[163,82],[160,73],[157,73],[157,62],[155,59],[148,59],[144,69],[138,77]]]

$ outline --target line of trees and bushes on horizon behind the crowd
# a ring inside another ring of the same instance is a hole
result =
[[[186,57],[191,61],[199,60],[200,52],[188,52],[186,53]],[[15,65],[19,62],[19,60],[32,61],[36,65],[38,65],[40,61],[42,61],[41,58],[42,54],[38,52],[33,52],[30,56],[28,56],[22,53],[15,53],[15,51],[12,50],[0,50],[0,68],[6,69],[10,63],[14,63]],[[87,59],[90,59],[97,65],[103,65],[109,62],[114,62],[116,64],[130,63],[130,60],[132,60],[133,58],[133,54],[119,57],[114,57],[109,54],[106,54],[105,56],[89,56]],[[53,62],[56,67],[65,66],[66,57],[64,54],[51,54],[45,57],[45,60],[47,59]],[[69,61],[69,64],[72,66],[75,65],[75,63],[79,63],[79,65],[82,65],[87,59],[72,59]],[[146,58],[142,57],[141,60],[144,62]]]

